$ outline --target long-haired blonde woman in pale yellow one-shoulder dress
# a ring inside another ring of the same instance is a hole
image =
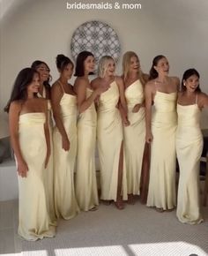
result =
[[[141,71],[138,56],[133,51],[128,51],[123,55],[123,80],[128,106],[128,119],[130,121],[130,125],[124,127],[128,201],[134,204],[136,199],[134,196],[140,194],[142,167],[144,167],[144,176],[147,176],[148,172],[148,147],[145,147],[144,104],[144,89],[148,75]],[[147,183],[146,179],[144,180],[145,183]],[[142,184],[142,186],[145,188],[146,184]],[[143,197],[145,197],[144,193]]]

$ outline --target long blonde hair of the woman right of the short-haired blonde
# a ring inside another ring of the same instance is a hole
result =
[[[130,72],[130,58],[132,56],[136,56],[137,60],[139,61],[139,58],[134,51],[127,51],[123,55],[123,79],[124,79],[124,81],[127,79],[128,73]],[[145,79],[143,78],[143,72],[140,68],[138,69],[138,79],[141,81],[142,85],[144,86]]]

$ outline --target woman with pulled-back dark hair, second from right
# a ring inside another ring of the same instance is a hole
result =
[[[176,205],[175,132],[179,79],[169,77],[168,72],[167,58],[156,56],[152,61],[150,81],[145,86],[146,142],[151,143],[147,206],[156,207],[159,212],[172,210]]]

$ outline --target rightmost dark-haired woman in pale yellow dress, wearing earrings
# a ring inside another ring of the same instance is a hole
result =
[[[201,110],[208,107],[208,95],[201,92],[199,73],[189,69],[182,76],[178,96],[176,153],[180,168],[176,215],[180,222],[203,222],[199,200],[199,164],[203,150]]]

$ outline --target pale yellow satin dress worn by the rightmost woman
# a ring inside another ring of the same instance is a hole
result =
[[[180,168],[176,215],[180,222],[203,222],[199,200],[199,164],[203,150],[201,111],[197,103],[177,105],[176,152]]]

